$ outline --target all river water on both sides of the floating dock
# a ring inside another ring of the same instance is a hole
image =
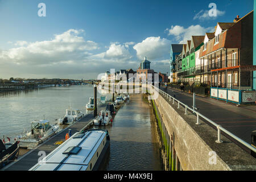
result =
[[[93,86],[44,88],[30,91],[0,93],[0,138],[14,138],[29,130],[36,119],[63,117],[71,106],[86,113],[85,105],[93,96]],[[98,93],[100,97],[100,93]],[[111,99],[111,94],[107,98]],[[149,102],[141,94],[133,95],[106,126],[110,135],[110,154],[106,170],[162,170],[155,128]]]

